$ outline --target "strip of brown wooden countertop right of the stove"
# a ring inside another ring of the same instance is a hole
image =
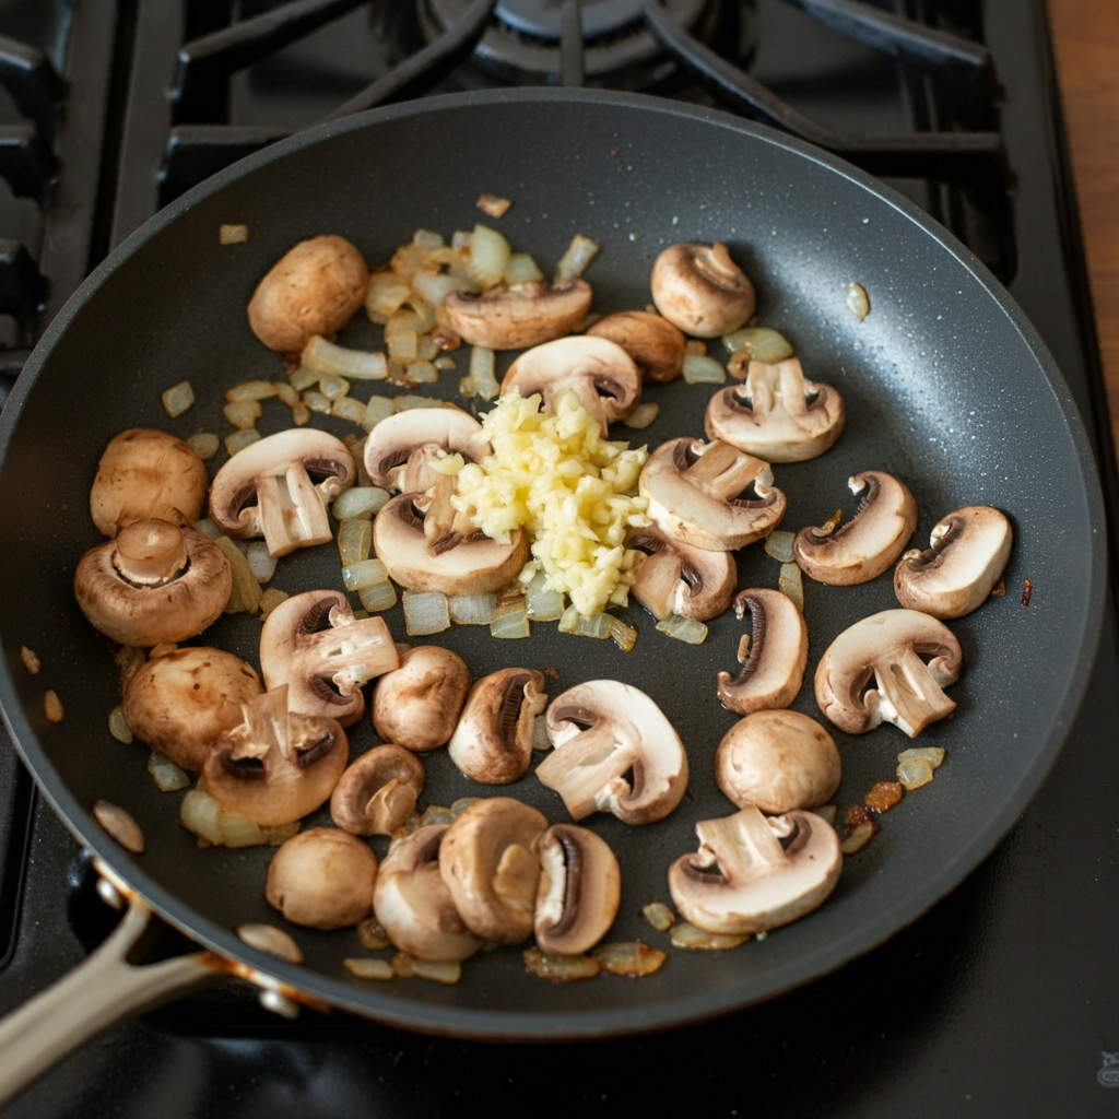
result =
[[[1119,445],[1119,6],[1047,0],[1111,434]]]

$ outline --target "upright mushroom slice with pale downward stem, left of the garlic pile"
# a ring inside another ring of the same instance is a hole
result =
[[[333,538],[327,502],[354,485],[340,439],[313,427],[276,432],[229,459],[210,487],[210,516],[227,536],[263,536],[273,557]],[[250,505],[253,496],[256,505]]]

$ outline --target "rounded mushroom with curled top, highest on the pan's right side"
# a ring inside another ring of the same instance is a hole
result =
[[[657,310],[687,335],[718,338],[754,313],[754,285],[722,242],[669,245],[652,265]]]

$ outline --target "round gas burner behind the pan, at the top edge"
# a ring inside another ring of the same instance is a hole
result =
[[[430,38],[454,25],[468,0],[420,0]],[[502,82],[554,84],[561,77],[564,0],[499,0],[473,62]],[[641,17],[641,0],[583,0],[583,72],[592,84],[646,88],[675,72]],[[679,27],[708,38],[721,4],[667,0],[665,12]],[[651,64],[651,65],[650,65]]]

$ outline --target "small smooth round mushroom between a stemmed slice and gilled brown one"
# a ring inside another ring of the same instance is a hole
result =
[[[373,689],[373,725],[386,742],[422,753],[446,743],[470,690],[470,669],[450,649],[420,645]]]

